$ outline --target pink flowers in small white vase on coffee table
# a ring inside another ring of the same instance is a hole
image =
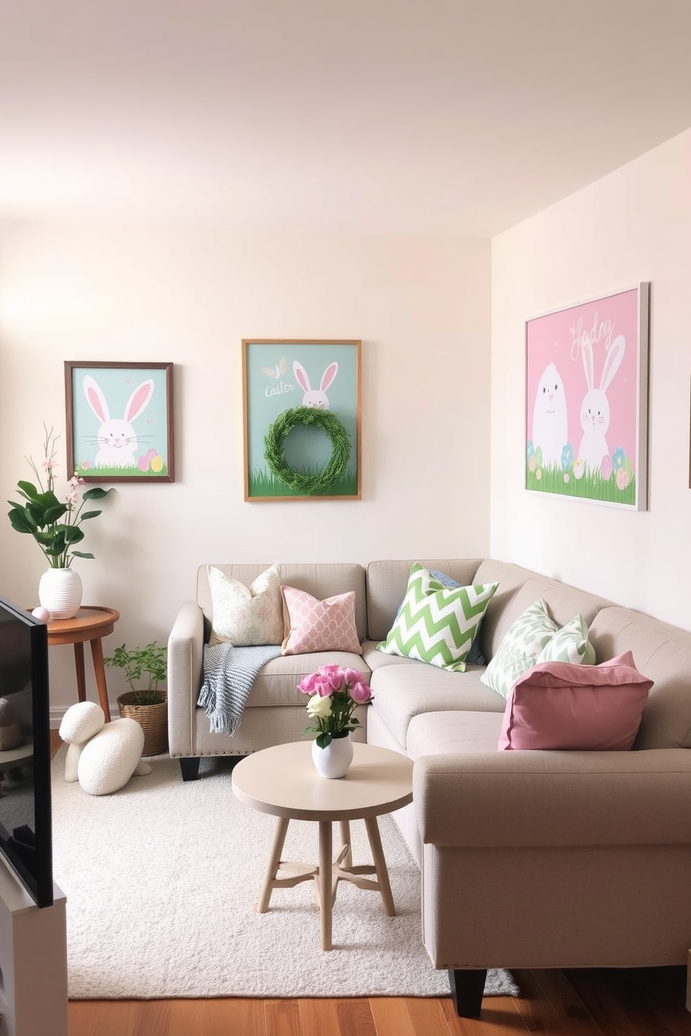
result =
[[[357,669],[321,665],[297,685],[309,694],[307,714],[313,725],[303,731],[316,733],[312,745],[314,765],[323,777],[343,777],[352,761],[350,733],[359,726],[353,712],[372,698],[372,688]]]

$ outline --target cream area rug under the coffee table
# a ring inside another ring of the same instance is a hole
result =
[[[397,916],[342,882],[322,952],[313,882],[256,912],[275,817],[235,798],[229,760],[203,760],[183,783],[177,760],[154,756],[147,776],[93,797],[65,782],[64,756],[53,760],[53,868],[70,999],[449,996],[422,942],[420,873],[390,816],[379,825]],[[353,862],[371,863],[363,822],[351,838]],[[291,821],[283,858],[318,860],[318,826]],[[518,989],[494,971],[486,994]]]

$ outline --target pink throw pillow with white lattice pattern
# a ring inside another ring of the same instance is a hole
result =
[[[355,592],[319,601],[316,597],[281,586],[286,636],[282,655],[308,655],[316,651],[348,651],[362,655],[355,629]]]

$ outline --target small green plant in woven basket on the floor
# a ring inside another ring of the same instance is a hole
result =
[[[167,649],[156,641],[143,648],[125,648],[120,644],[106,665],[124,669],[124,679],[132,690],[117,699],[120,716],[136,719],[144,730],[142,755],[159,755],[168,747],[168,695],[159,690],[159,683],[168,671]]]

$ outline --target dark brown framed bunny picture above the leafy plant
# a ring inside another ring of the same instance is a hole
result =
[[[173,365],[66,359],[67,469],[85,482],[174,482]]]

